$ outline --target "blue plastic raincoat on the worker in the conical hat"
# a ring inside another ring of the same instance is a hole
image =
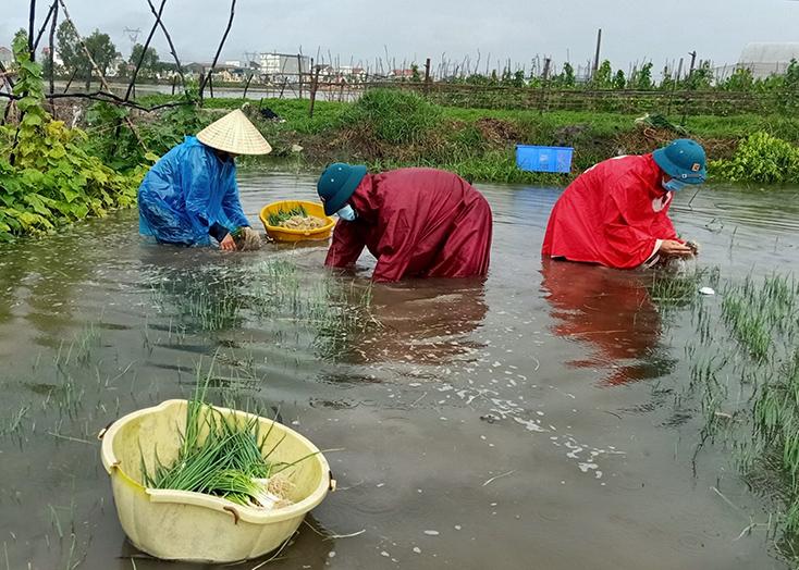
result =
[[[222,162],[196,137],[186,137],[150,169],[138,188],[138,212],[139,232],[162,244],[207,246],[209,232],[221,239],[221,228],[249,225],[235,163]]]

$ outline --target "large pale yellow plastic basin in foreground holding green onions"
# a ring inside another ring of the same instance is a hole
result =
[[[111,476],[116,513],[134,546],[165,560],[235,562],[256,558],[278,548],[319,505],[334,482],[319,449],[285,425],[258,418],[275,461],[297,463],[290,497],[294,504],[275,510],[236,505],[221,497],[185,491],[148,490],[142,482],[142,454],[152,469],[156,446],[163,463],[177,456],[177,430],[186,421],[186,400],[167,400],[153,408],[116,420],[102,436],[102,466]],[[251,414],[217,408],[223,414]]]

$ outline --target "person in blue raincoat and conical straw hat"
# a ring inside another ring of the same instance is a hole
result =
[[[160,244],[208,246],[213,238],[224,250],[256,249],[260,236],[242,210],[234,159],[271,150],[239,110],[186,137],[138,188],[139,232]]]

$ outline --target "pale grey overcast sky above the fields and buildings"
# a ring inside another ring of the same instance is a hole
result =
[[[152,0],[156,5],[160,0]],[[48,0],[39,0],[45,16]],[[0,46],[27,26],[27,0],[3,0]],[[126,57],[126,27],[140,28],[144,41],[153,17],[147,0],[66,0],[79,32],[108,33]],[[228,20],[228,0],[167,0],[163,21],[182,61],[210,61]],[[444,58],[474,62],[484,70],[508,58],[529,66],[549,55],[558,66],[593,57],[602,28],[602,58],[625,71],[631,62],[651,60],[660,70],[691,50],[715,64],[734,63],[750,41],[799,41],[798,0],[238,0],[224,60],[243,60],[245,51],[300,50],[342,64],[351,58],[407,60],[438,65]],[[159,33],[152,45],[169,59]],[[687,57],[687,55],[686,55]]]

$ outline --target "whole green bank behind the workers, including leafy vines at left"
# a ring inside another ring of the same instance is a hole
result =
[[[24,58],[24,55],[21,55]],[[53,230],[62,223],[135,202],[138,179],[151,161],[185,135],[244,107],[273,147],[267,157],[242,157],[244,166],[321,170],[333,161],[366,163],[372,171],[431,166],[472,182],[566,185],[591,165],[618,154],[654,150],[680,136],[699,139],[713,160],[711,179],[799,183],[799,119],[784,115],[666,117],[560,111],[440,107],[414,92],[370,90],[357,102],[272,99],[189,99],[148,96],[143,104],[179,103],[147,113],[94,103],[85,133],[53,121],[44,100],[41,70],[23,62],[12,121],[0,126],[0,240]],[[260,107],[280,120],[265,119]],[[61,117],[74,112],[72,103]],[[135,134],[128,127],[135,125]],[[515,145],[574,147],[570,174],[523,172]]]

